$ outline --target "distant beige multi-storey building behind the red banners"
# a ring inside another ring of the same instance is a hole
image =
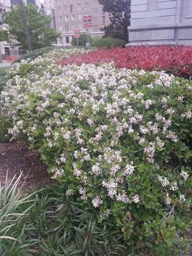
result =
[[[61,33],[58,44],[63,46],[70,45],[74,31],[86,32],[83,27],[84,15],[92,15],[92,27],[88,28],[88,34],[93,37],[102,36],[100,28],[109,24],[109,15],[103,12],[97,0],[54,0],[54,10],[56,30]]]

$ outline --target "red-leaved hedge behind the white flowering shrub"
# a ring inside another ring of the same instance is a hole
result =
[[[177,76],[192,75],[192,46],[131,46],[100,48],[86,54],[63,58],[62,65],[115,62],[116,67],[129,69],[166,70]]]

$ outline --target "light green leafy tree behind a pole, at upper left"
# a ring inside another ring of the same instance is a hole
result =
[[[26,4],[25,9],[32,49],[50,46],[60,36],[51,28],[51,16],[42,13],[34,4]],[[11,7],[10,12],[4,13],[3,21],[8,24],[8,42],[12,46],[28,49],[20,5]]]

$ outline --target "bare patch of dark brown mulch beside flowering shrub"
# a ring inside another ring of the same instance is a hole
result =
[[[3,183],[7,171],[8,178],[18,176],[22,172],[20,185],[24,183],[24,189],[54,182],[47,173],[47,167],[40,159],[38,151],[28,149],[26,144],[20,142],[0,142],[0,180]]]

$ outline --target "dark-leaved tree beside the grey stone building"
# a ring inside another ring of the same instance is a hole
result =
[[[104,12],[109,13],[110,24],[102,28],[105,37],[120,38],[128,42],[131,0],[99,0],[99,3],[104,6]]]

